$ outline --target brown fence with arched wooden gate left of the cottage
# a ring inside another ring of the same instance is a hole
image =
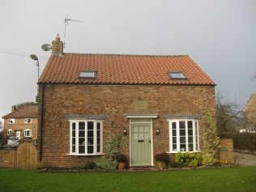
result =
[[[0,168],[36,169],[37,150],[33,143],[0,149]]]

